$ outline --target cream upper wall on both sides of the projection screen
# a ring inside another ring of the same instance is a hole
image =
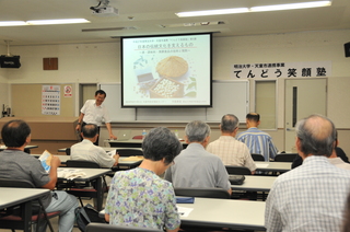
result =
[[[213,79],[231,80],[232,65],[245,62],[323,61],[332,63],[328,78],[327,114],[338,128],[345,129],[343,138],[350,139],[350,58],[345,57],[343,44],[350,30],[302,32],[254,36],[213,37]],[[97,44],[12,46],[11,53],[21,56],[22,67],[0,69],[0,92],[7,93],[12,83],[97,83],[120,81],[119,42]],[[0,46],[1,54],[5,47]],[[44,57],[58,57],[57,71],[43,71]],[[252,84],[250,84],[252,85]],[[271,131],[278,143],[283,137],[284,81],[278,80],[278,128]],[[230,93],[228,97],[230,97]],[[3,95],[3,94],[2,94]],[[1,95],[1,97],[3,97]],[[10,103],[10,93],[3,102]],[[250,93],[250,98],[254,97]],[[337,104],[334,104],[336,102]],[[75,104],[77,105],[77,104]],[[250,106],[254,111],[254,105]],[[242,118],[243,119],[243,118]],[[347,143],[347,142],[343,142]],[[350,147],[348,149],[350,153]]]

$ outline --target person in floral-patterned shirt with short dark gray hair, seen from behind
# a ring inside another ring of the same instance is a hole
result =
[[[173,164],[182,148],[170,129],[150,130],[142,142],[144,160],[140,166],[116,172],[112,179],[105,208],[109,224],[178,231],[174,188],[160,175]]]

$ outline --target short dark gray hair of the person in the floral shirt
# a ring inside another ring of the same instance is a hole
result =
[[[165,163],[170,164],[183,150],[183,146],[170,129],[156,127],[144,137],[142,150],[145,159],[160,161],[165,158]]]

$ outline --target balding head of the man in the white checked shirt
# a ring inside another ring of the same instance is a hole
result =
[[[337,140],[334,123],[322,115],[311,115],[295,126],[296,137],[301,141],[304,154],[330,156]]]

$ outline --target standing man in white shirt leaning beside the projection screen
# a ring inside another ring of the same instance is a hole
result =
[[[81,114],[78,118],[75,130],[80,131],[85,124],[95,124],[98,127],[100,135],[100,127],[104,121],[109,134],[109,139],[117,139],[117,137],[112,132],[110,119],[107,108],[102,104],[105,101],[106,95],[107,94],[105,91],[97,90],[95,92],[95,100],[88,100],[85,102],[84,106],[80,109]],[[98,138],[94,144],[98,146]]]

